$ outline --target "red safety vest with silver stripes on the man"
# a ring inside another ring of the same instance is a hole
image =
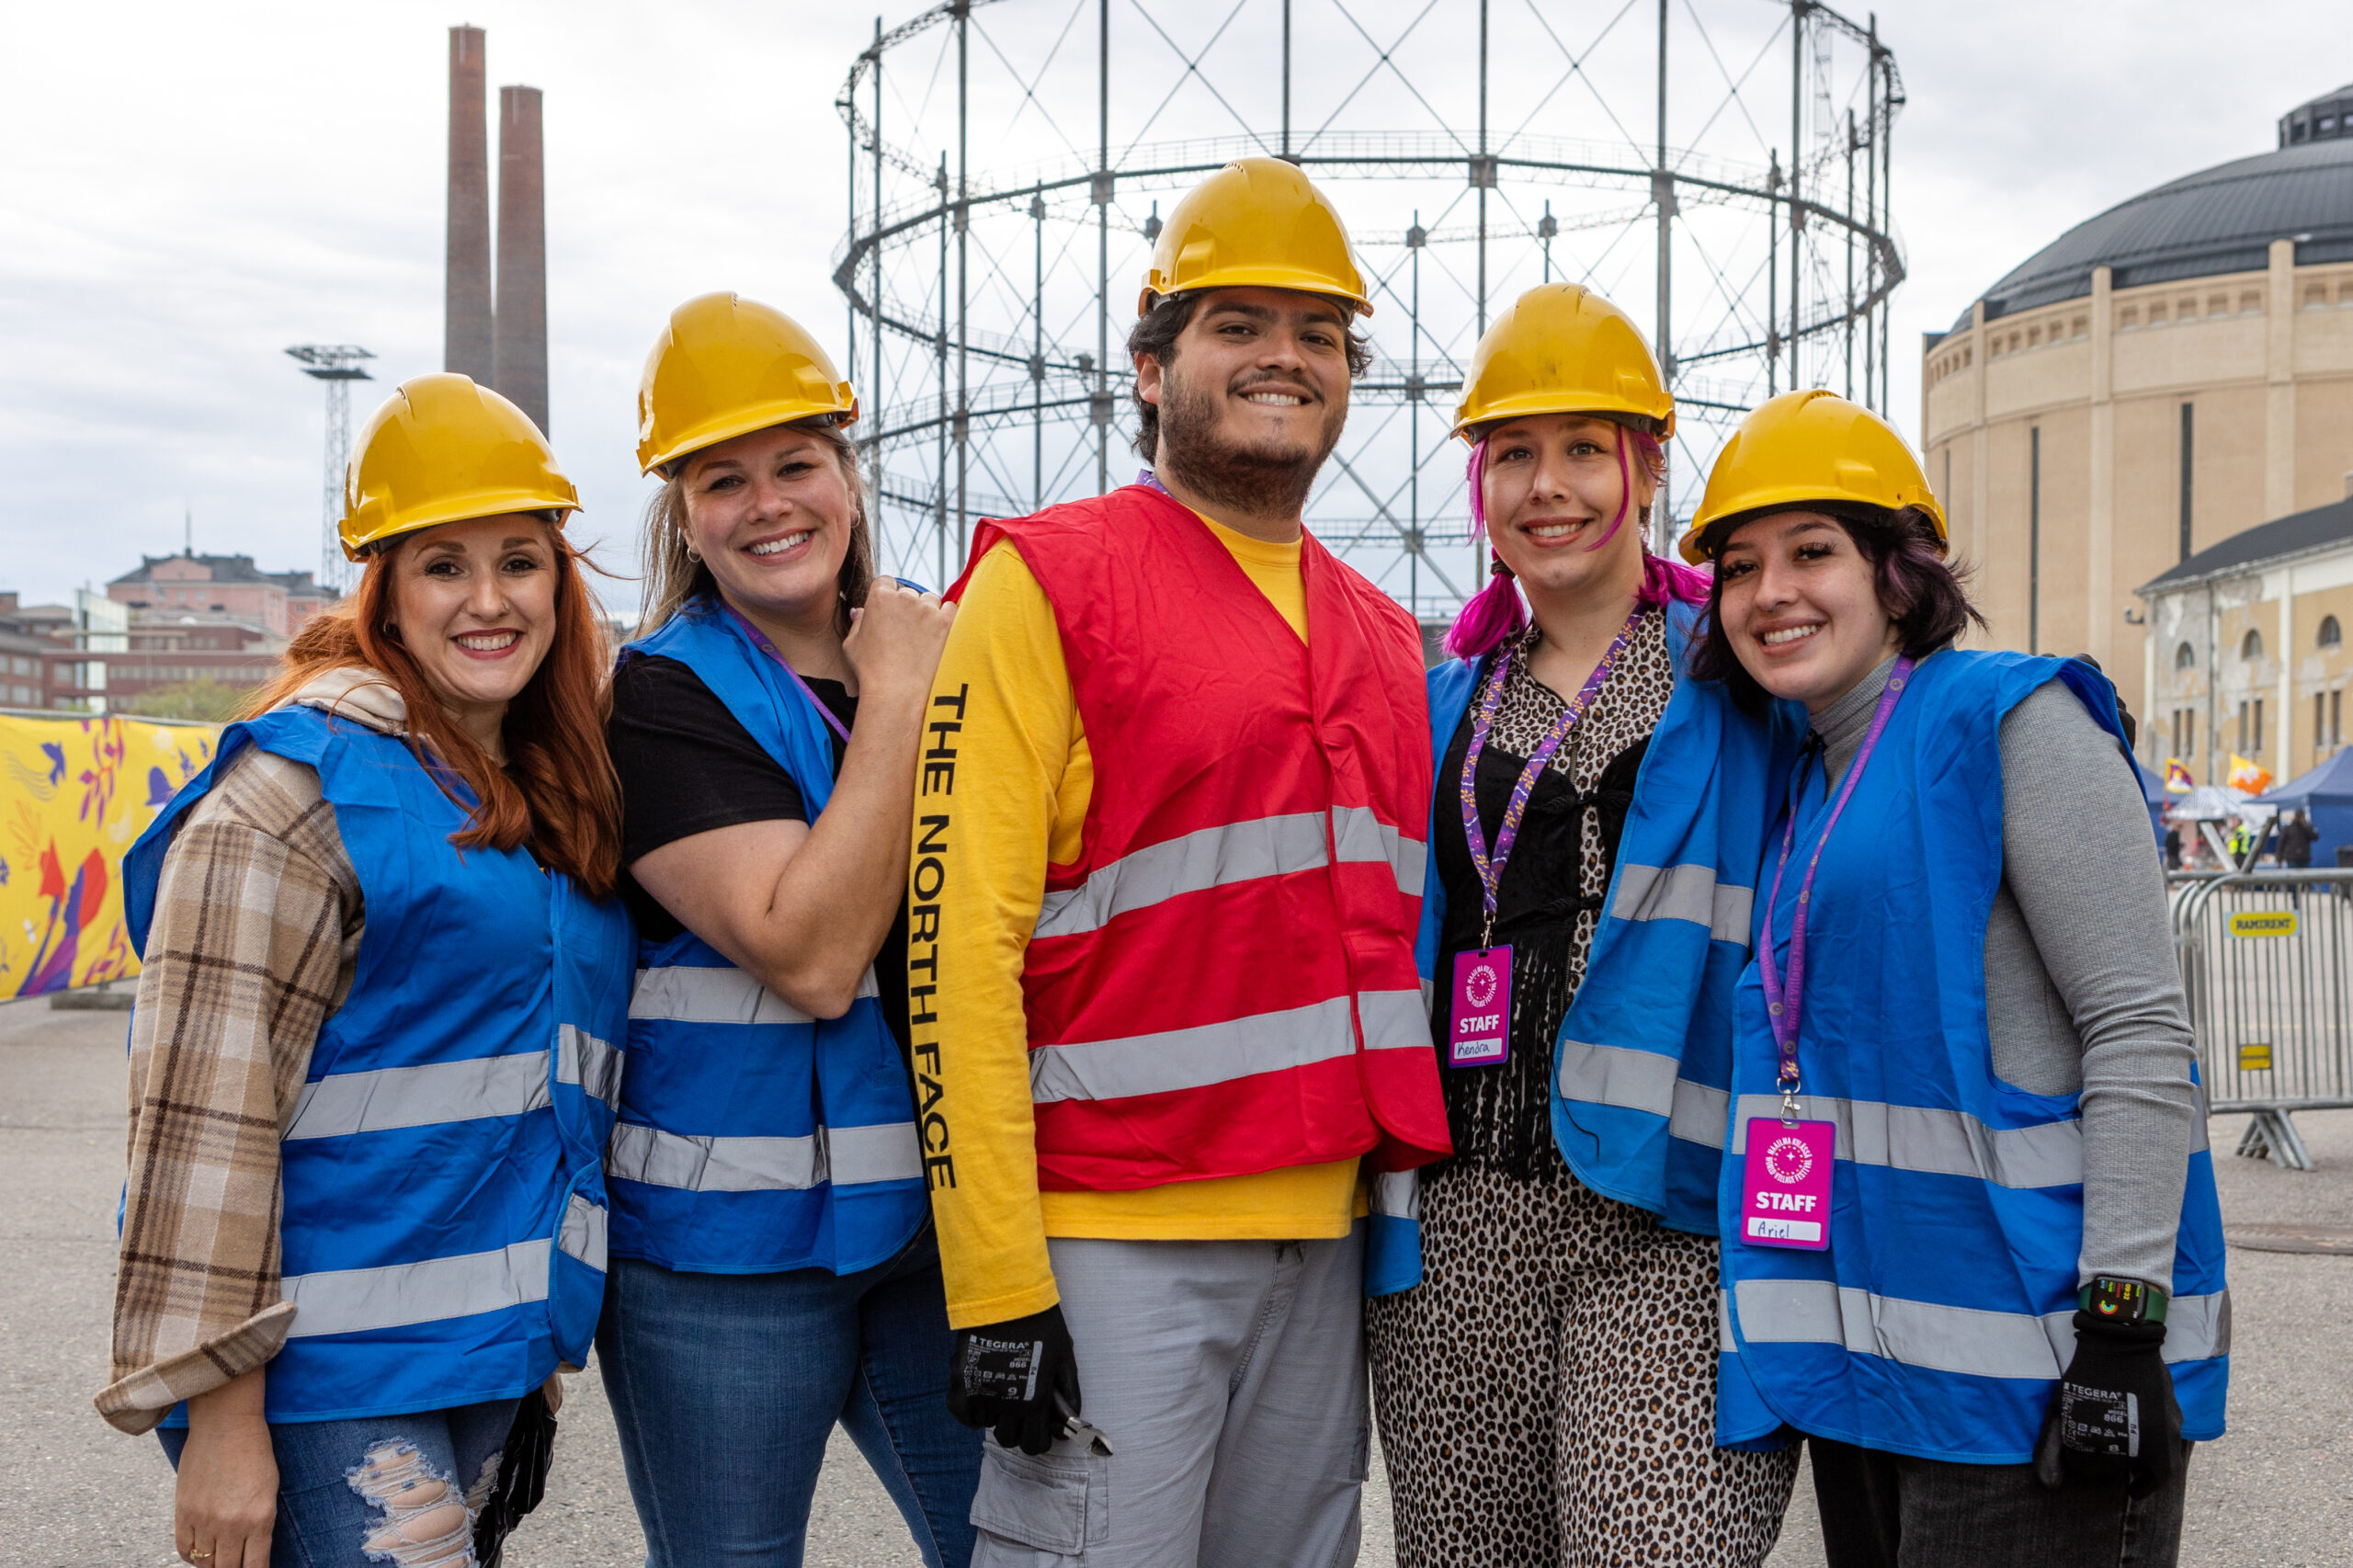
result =
[[[984,523],[972,560],[1000,539],[1054,607],[1094,756],[1021,972],[1040,1187],[1449,1154],[1414,972],[1414,622],[1308,534],[1301,645],[1200,518],[1139,485]]]

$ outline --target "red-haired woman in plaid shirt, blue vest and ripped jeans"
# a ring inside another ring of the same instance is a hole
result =
[[[402,384],[346,487],[358,591],[125,862],[96,1403],[162,1427],[188,1563],[475,1563],[525,1401],[588,1354],[631,928],[576,509],[513,403]]]

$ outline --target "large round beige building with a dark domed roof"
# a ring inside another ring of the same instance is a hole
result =
[[[2353,603],[2297,598],[2341,593],[2322,586],[2334,572],[2224,586],[2254,565],[2231,551],[2179,567],[2353,487],[2353,87],[2282,115],[2275,151],[2052,240],[1927,334],[1920,388],[1929,483],[1993,647],[2089,652],[2144,718],[2141,756],[2181,756],[2200,784],[2233,749],[2282,779],[2325,753],[2313,697],[2344,687],[2346,659],[2306,643]],[[2160,577],[2169,593],[2144,610],[2137,591]],[[2198,610],[2179,591],[2193,582]],[[2153,638],[2158,610],[2212,626]],[[2235,723],[2257,697],[2271,723]]]

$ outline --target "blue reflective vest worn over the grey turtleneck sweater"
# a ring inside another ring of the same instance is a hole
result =
[[[1788,1422],[1927,1460],[2033,1457],[2075,1347],[2082,1123],[2075,1095],[2028,1095],[1993,1076],[1986,918],[2002,885],[2002,716],[2047,680],[2066,680],[2122,737],[2115,690],[2080,659],[1932,655],[1821,855],[1798,1071],[1800,1116],[1838,1123],[1831,1248],[1737,1241],[1744,1158],[1722,1163],[1718,1441]],[[2120,749],[2118,789],[2129,782]],[[1769,911],[1781,963],[1824,810],[1814,768]],[[1748,1121],[1781,1114],[1753,963],[1737,1019],[1732,1151],[1744,1156]],[[2184,1436],[2202,1441],[2224,1427],[2231,1307],[2205,1116],[2198,1128],[2165,1361]]]

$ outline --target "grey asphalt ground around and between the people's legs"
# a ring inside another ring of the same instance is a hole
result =
[[[172,1471],[155,1439],[101,1422],[115,1196],[122,1182],[122,1012],[0,1003],[0,1566],[165,1568]],[[2226,1224],[2353,1229],[2353,1111],[2308,1111],[2320,1170],[2231,1158],[2245,1118],[2214,1121]],[[2191,1462],[2181,1561],[2320,1568],[2353,1561],[2353,1257],[2231,1250],[2231,1436]],[[569,1380],[546,1502],[513,1568],[631,1568],[642,1537],[612,1413],[591,1368]],[[1388,1490],[1365,1495],[1362,1563],[1393,1559]],[[809,1526],[812,1568],[915,1563],[896,1509],[835,1439]],[[1821,1563],[1812,1483],[1772,1568]]]

